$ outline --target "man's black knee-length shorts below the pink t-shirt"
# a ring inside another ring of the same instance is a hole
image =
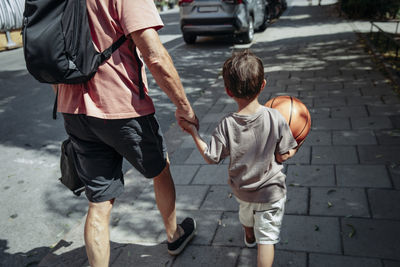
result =
[[[166,146],[154,114],[117,120],[63,116],[77,155],[77,172],[91,202],[107,201],[123,192],[123,157],[147,178],[159,175],[166,166]]]

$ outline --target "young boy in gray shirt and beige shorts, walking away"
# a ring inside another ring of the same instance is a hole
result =
[[[286,201],[282,162],[292,157],[297,143],[284,117],[262,106],[258,96],[264,89],[264,67],[249,51],[234,54],[223,66],[225,90],[238,105],[215,129],[210,145],[196,126],[180,121],[190,133],[207,163],[230,156],[229,180],[239,202],[239,219],[247,247],[258,244],[258,266],[272,266],[274,244],[279,242]]]

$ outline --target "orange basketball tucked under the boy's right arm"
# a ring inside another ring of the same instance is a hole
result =
[[[266,107],[277,109],[289,124],[297,144],[303,141],[311,128],[311,116],[306,105],[293,96],[277,96],[265,103]]]

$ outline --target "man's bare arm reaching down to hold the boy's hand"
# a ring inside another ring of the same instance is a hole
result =
[[[143,56],[158,86],[167,94],[176,106],[175,117],[178,123],[187,120],[198,128],[197,117],[186,97],[178,72],[168,51],[161,43],[158,33],[153,28],[131,33],[135,45]]]

